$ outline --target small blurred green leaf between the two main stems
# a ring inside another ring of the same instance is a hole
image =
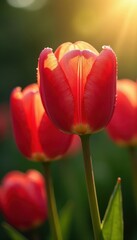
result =
[[[69,239],[70,226],[73,217],[73,205],[69,202],[62,209],[60,214],[60,224],[63,233],[63,239]]]

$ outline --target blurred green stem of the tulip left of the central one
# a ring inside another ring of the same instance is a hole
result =
[[[50,171],[50,164],[49,162],[43,163],[44,170],[45,170],[45,182],[46,182],[46,191],[47,191],[47,198],[48,198],[48,215],[49,215],[49,222],[50,228],[52,233],[52,238],[54,240],[62,240],[62,233],[59,223],[59,217],[56,207],[51,171]]]

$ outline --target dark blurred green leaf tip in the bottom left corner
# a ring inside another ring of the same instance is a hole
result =
[[[25,238],[15,228],[11,227],[8,223],[3,223],[3,227],[12,240],[27,240],[27,238]]]

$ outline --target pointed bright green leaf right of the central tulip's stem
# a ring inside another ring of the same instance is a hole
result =
[[[102,221],[104,240],[123,240],[121,179],[118,178]]]

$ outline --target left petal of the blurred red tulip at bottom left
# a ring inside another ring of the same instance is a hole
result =
[[[3,210],[10,224],[19,228],[29,228],[34,219],[33,202],[27,190],[29,182],[24,179],[24,174],[14,171],[3,180]],[[22,211],[20,211],[22,209]],[[35,212],[35,211],[34,211]]]

